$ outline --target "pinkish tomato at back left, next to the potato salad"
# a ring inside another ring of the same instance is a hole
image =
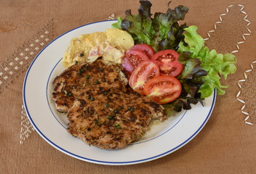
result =
[[[126,70],[129,74],[132,73],[133,70],[137,67],[137,65],[140,64],[140,62],[143,62],[145,60],[149,60],[148,56],[143,53],[143,51],[134,49],[129,49],[124,54],[124,63],[122,64],[122,67],[124,70]]]

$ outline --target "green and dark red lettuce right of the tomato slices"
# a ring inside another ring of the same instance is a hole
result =
[[[229,74],[236,72],[236,57],[233,54],[217,54],[214,49],[210,51],[204,46],[204,39],[196,33],[197,28],[194,25],[184,30],[184,42],[179,44],[177,50],[180,54],[178,61],[184,66],[178,77],[183,92],[175,101],[162,105],[167,115],[173,111],[191,109],[190,104],[198,101],[203,104],[203,99],[211,96],[215,88],[217,94],[225,94],[223,88],[228,86],[220,83],[220,77],[226,79]]]

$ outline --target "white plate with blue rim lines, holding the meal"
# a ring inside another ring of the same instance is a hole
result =
[[[87,162],[103,165],[131,165],[148,162],[174,152],[204,127],[215,105],[215,93],[188,111],[153,125],[145,137],[119,150],[98,149],[71,136],[65,128],[65,115],[56,112],[51,99],[52,80],[64,70],[60,59],[71,41],[80,34],[104,31],[113,21],[95,22],[64,33],[49,43],[31,63],[23,84],[23,102],[33,127],[49,144],[61,152]]]

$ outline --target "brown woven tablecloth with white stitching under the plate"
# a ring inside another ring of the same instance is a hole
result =
[[[152,12],[167,9],[166,0],[151,2]],[[238,69],[223,82],[230,88],[217,96],[212,116],[192,141],[161,159],[127,166],[84,162],[50,146],[28,123],[22,86],[29,63],[53,38],[89,22],[108,20],[111,14],[122,15],[125,9],[135,12],[138,1],[0,4],[0,173],[256,173],[256,1],[172,1],[172,7],[189,7],[185,21],[198,26],[207,46],[236,54]]]

